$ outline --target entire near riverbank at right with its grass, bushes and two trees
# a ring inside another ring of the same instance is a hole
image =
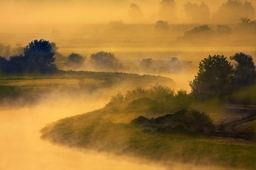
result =
[[[160,84],[118,92],[102,109],[47,125],[41,138],[150,160],[254,169],[256,108],[241,105],[245,96],[237,96],[248,94],[254,101],[249,93],[255,88],[255,65],[244,53],[231,59],[235,67],[223,55],[202,60],[190,94]],[[241,70],[252,75],[249,83],[239,76]]]

